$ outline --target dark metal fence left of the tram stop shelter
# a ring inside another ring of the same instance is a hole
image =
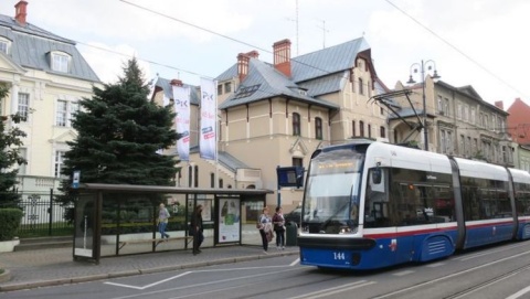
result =
[[[65,212],[74,205],[62,206],[53,201],[53,189],[49,193],[21,192],[19,206],[22,209],[22,217],[18,229],[20,237],[29,236],[55,236],[73,232],[73,224],[65,218]]]

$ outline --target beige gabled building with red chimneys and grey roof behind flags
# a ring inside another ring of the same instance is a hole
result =
[[[290,41],[282,40],[273,52],[273,63],[261,61],[257,51],[240,53],[216,77],[219,162],[200,159],[199,122],[192,121],[195,136],[180,184],[275,190],[267,203],[280,202],[289,211],[301,201],[303,189],[278,189],[277,167],[307,168],[315,149],[352,137],[386,140],[388,113],[369,100],[384,93],[384,85],[363,38],[298,57],[290,56]],[[167,83],[160,81],[158,90],[170,90]],[[155,93],[159,102],[161,94]],[[195,121],[198,105],[192,100]]]

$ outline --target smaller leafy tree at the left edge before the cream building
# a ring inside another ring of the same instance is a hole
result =
[[[9,88],[0,85],[0,98],[6,98]],[[14,207],[20,201],[20,194],[14,191],[17,184],[17,165],[25,164],[28,161],[20,154],[20,147],[23,146],[22,138],[26,135],[17,126],[7,127],[7,121],[19,124],[22,117],[19,114],[3,116],[0,119],[0,207]]]

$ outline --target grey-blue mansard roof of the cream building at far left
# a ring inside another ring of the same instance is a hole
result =
[[[75,47],[74,41],[55,35],[31,23],[20,25],[13,18],[2,14],[0,14],[0,36],[11,41],[11,49],[7,57],[21,67],[99,82],[96,73]],[[62,51],[72,56],[68,73],[52,71],[49,57],[52,51]]]

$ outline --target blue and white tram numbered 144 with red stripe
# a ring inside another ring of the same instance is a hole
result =
[[[314,152],[300,264],[374,269],[530,238],[530,174],[370,140]]]

